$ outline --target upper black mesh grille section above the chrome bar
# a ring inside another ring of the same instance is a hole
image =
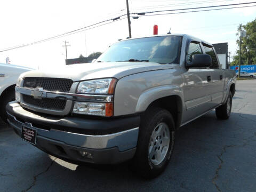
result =
[[[65,78],[25,77],[23,87],[43,87],[48,91],[69,92],[73,81]]]

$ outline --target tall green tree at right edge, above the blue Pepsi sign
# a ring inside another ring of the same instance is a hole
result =
[[[241,38],[241,65],[256,65],[256,19],[242,26],[242,30],[246,31],[246,36]],[[239,45],[239,40],[236,41],[236,44]],[[239,50],[236,51],[236,54],[231,65],[239,63]]]

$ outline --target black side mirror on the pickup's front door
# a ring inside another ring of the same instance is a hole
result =
[[[210,67],[212,65],[212,58],[209,54],[194,54],[192,61],[186,64],[186,67]]]

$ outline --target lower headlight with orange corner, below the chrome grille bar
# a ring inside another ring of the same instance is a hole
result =
[[[109,117],[113,116],[113,103],[75,102],[73,113]]]

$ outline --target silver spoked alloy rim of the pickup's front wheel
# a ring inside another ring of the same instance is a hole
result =
[[[148,158],[154,165],[163,162],[170,146],[170,130],[166,123],[159,123],[151,133]]]

